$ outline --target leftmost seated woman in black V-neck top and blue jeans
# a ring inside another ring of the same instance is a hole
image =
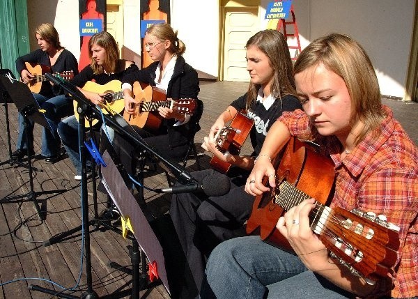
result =
[[[40,49],[20,56],[16,59],[16,69],[20,73],[22,81],[31,86],[34,75],[29,72],[25,63],[36,63],[40,66],[47,66],[52,73],[70,72],[74,75],[78,73],[78,64],[75,56],[61,46],[59,34],[52,24],[40,24],[35,30],[36,40]],[[38,74],[40,75],[40,74]],[[61,118],[73,114],[72,100],[63,95],[64,91],[54,86],[51,82],[41,83],[39,93],[33,93],[36,101],[45,110],[45,116],[51,128],[42,128],[42,157],[46,162],[56,162],[59,159],[61,141],[56,133],[56,127]],[[24,127],[24,118],[19,113],[19,135],[17,137],[16,151],[12,153],[12,158],[20,160],[24,158],[27,151],[33,151],[33,122],[29,122],[27,129]],[[29,134],[29,144],[26,143],[26,130]]]

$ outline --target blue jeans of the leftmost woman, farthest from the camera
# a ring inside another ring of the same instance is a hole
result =
[[[39,93],[32,93],[33,97],[40,105],[41,109],[45,110],[45,118],[49,124],[49,128],[42,128],[42,156],[52,157],[59,154],[61,147],[61,140],[56,132],[57,125],[61,121],[61,118],[72,114],[72,100],[65,97],[65,95],[58,95],[54,98],[45,98],[45,96]],[[26,149],[28,144],[26,142],[26,131],[24,128],[24,117],[19,113],[19,135],[17,137],[17,149]],[[33,148],[33,121],[29,120],[28,133],[29,133],[29,144]]]

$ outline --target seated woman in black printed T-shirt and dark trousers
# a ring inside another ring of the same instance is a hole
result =
[[[201,182],[206,176],[229,176],[231,189],[222,196],[174,194],[170,216],[187,259],[184,272],[191,270],[193,281],[183,279],[182,297],[194,298],[199,293],[206,257],[223,240],[242,236],[242,224],[248,219],[254,197],[244,192],[245,180],[254,166],[255,157],[271,125],[283,112],[300,108],[295,97],[292,61],[284,36],[275,30],[264,30],[249,38],[246,59],[250,82],[247,93],[233,101],[217,118],[205,137],[203,148],[233,167],[224,175],[216,170],[196,171],[192,176]],[[215,135],[242,109],[254,120],[249,133],[254,152],[241,156],[221,153]],[[220,182],[222,177],[219,177]],[[222,186],[219,187],[222,189]],[[181,269],[183,270],[183,269]]]

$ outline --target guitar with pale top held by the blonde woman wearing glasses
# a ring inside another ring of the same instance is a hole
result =
[[[167,100],[167,95],[161,89],[148,84],[134,82],[132,86],[134,99],[139,103],[134,105],[135,112],[123,113],[123,118],[130,125],[154,131],[160,128],[162,116],[158,114],[159,107],[167,107],[180,114],[194,113],[196,101],[194,99]]]

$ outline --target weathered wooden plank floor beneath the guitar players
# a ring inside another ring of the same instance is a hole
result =
[[[201,151],[201,165],[208,167],[210,157],[200,147],[203,137],[220,112],[229,103],[247,90],[247,83],[238,82],[201,82],[199,98],[203,100],[205,109],[201,119],[201,131],[196,135],[195,142]],[[416,119],[418,104],[415,102],[395,102],[384,100],[385,104],[394,109],[395,116],[401,120],[405,129],[415,143],[418,143]],[[15,105],[8,104],[12,151],[15,150],[17,138],[17,110]],[[8,139],[6,134],[5,107],[0,112],[0,199],[24,195],[29,192],[29,174],[26,167],[10,165],[8,162]],[[80,203],[80,184],[74,181],[74,169],[68,158],[54,164],[40,160],[40,126],[36,125],[35,151],[33,167],[33,188],[35,192],[48,190],[65,190],[63,193],[37,194],[40,208],[45,213],[45,220],[39,220],[33,202],[27,198],[18,198],[2,202],[0,213],[0,287],[1,298],[54,298],[54,295],[29,291],[29,284],[37,284],[48,289],[61,291],[59,285],[72,289],[66,293],[81,296],[87,290],[86,265],[81,262],[82,235],[77,230],[59,243],[44,246],[44,243],[61,232],[79,227],[82,210]],[[242,150],[249,152],[246,144]],[[196,169],[194,160],[187,165],[189,170]],[[145,185],[150,188],[167,187],[167,178],[161,171],[149,171]],[[167,213],[169,210],[169,194],[156,194],[146,191],[145,199],[155,213]],[[92,181],[88,182],[88,208],[90,219],[93,217]],[[106,196],[98,192],[99,211],[104,208]],[[109,268],[107,263],[114,261],[130,267],[127,245],[130,241],[123,239],[118,233],[90,227],[91,229],[91,273],[93,290],[100,298],[127,298],[118,296],[121,291],[129,294],[132,277],[118,270]],[[42,279],[38,279],[42,278]],[[55,284],[52,284],[51,282]],[[169,298],[162,285],[141,291],[144,298]]]

